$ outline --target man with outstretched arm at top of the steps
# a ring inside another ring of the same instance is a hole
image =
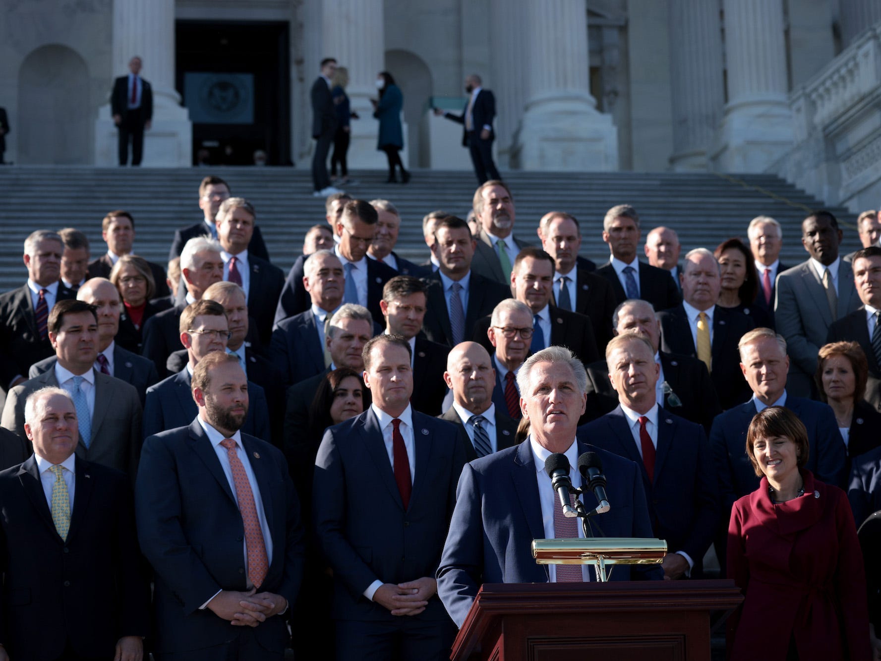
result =
[[[462,124],[462,146],[468,147],[478,182],[485,183],[490,179],[501,179],[501,176],[495,163],[492,162],[492,140],[495,139],[495,132],[492,130],[492,120],[495,119],[495,96],[482,85],[478,74],[472,73],[465,78],[468,102],[462,115],[453,115],[441,108],[434,108],[434,114]]]

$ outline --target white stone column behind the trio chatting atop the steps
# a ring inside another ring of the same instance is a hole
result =
[[[385,11],[382,0],[323,0],[322,38],[322,58],[335,57],[339,66],[349,70],[346,93],[349,94],[352,112],[360,117],[352,122],[349,167],[384,168],[387,164],[385,154],[376,151],[379,122],[374,119],[374,107],[370,102],[371,99],[379,99],[376,74],[385,69]],[[394,71],[390,73],[395,75]],[[316,70],[310,75],[310,87],[318,74]],[[402,92],[406,93],[406,90]],[[404,136],[406,134],[404,129]],[[402,152],[402,160],[404,155]]]

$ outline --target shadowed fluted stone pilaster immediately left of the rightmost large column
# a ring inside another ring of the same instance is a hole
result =
[[[670,86],[677,171],[707,170],[725,100],[722,20],[707,0],[670,0]]]

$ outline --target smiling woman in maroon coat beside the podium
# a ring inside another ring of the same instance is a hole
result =
[[[731,659],[870,659],[862,553],[848,499],[803,469],[808,434],[780,406],[746,434],[759,488],[734,504],[728,576],[744,590]]]

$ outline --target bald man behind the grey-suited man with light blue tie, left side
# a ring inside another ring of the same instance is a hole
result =
[[[93,305],[98,314],[98,355],[94,363],[95,369],[102,374],[115,376],[126,383],[131,383],[137,390],[137,397],[143,406],[147,389],[159,381],[159,375],[152,360],[131,353],[115,343],[116,333],[119,331],[119,316],[122,312],[119,291],[110,280],[93,278],[86,280],[78,289],[77,300]],[[33,379],[55,368],[57,361],[56,356],[50,356],[33,363],[27,373],[28,378]]]

